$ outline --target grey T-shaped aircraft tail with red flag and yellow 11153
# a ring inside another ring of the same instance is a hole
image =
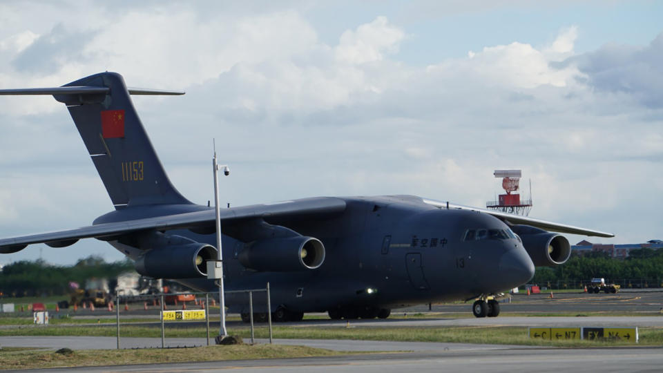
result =
[[[66,104],[116,209],[191,204],[173,187],[131,102],[134,95],[182,95],[126,88],[122,75],[99,73],[61,87],[0,90],[0,95],[53,95]]]

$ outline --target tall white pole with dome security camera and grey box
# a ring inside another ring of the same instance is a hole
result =
[[[222,339],[228,336],[226,330],[226,302],[223,295],[223,256],[221,249],[221,210],[219,207],[219,178],[218,171],[223,169],[223,174],[230,175],[230,169],[226,164],[218,164],[216,162],[216,146],[214,147],[214,157],[212,158],[214,169],[214,208],[216,211],[216,248],[218,249],[217,260],[209,260],[207,262],[207,278],[218,280],[219,285],[219,313],[220,313],[220,328],[219,335],[214,338],[216,344],[220,344]]]

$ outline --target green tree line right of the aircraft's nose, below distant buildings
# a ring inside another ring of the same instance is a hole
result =
[[[615,283],[640,281],[646,282],[648,287],[659,287],[663,280],[663,250],[647,247],[633,249],[624,260],[611,258],[602,252],[584,255],[573,253],[563,265],[537,267],[536,274],[530,282],[544,286],[547,283],[567,283],[571,286],[571,283],[579,281],[588,283],[597,277]],[[640,282],[637,286],[640,286]]]

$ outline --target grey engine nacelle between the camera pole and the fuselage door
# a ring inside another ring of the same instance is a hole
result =
[[[302,271],[316,269],[325,261],[325,245],[313,237],[260,240],[242,249],[240,263],[256,271]]]

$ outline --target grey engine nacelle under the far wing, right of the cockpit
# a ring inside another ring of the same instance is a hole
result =
[[[571,246],[564,236],[529,225],[511,227],[521,240],[536,267],[555,267],[571,256]]]

